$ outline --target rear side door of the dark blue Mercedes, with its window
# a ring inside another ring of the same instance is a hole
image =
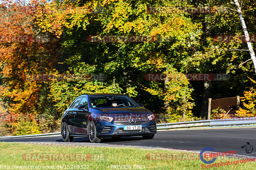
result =
[[[74,102],[70,105],[69,109],[67,110],[67,121],[68,121],[68,130],[70,130],[70,134],[76,134],[75,131],[75,113],[81,97],[74,100]]]

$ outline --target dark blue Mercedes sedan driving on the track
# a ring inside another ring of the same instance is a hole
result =
[[[156,134],[155,115],[123,94],[90,94],[77,97],[61,116],[63,141],[89,137],[100,143],[102,138]]]

